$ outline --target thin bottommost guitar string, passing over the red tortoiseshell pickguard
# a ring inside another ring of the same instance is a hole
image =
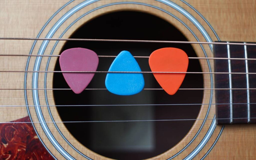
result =
[[[248,119],[246,118],[232,118],[234,119]],[[252,117],[250,119],[256,119]],[[2,123],[90,123],[90,122],[151,122],[151,121],[197,121],[197,120],[230,120],[230,118],[205,118],[205,119],[165,119],[165,120],[114,120],[114,121],[48,121],[48,122],[0,122]]]

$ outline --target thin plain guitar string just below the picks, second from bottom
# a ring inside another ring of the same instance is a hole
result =
[[[0,105],[0,107],[87,107],[87,106],[167,106],[167,105],[230,105],[231,103],[184,103],[184,104],[93,104],[93,105]],[[232,103],[232,104],[248,104],[248,103]],[[256,103],[250,103],[256,104]]]

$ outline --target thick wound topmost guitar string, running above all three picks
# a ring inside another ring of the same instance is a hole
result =
[[[179,44],[212,44],[212,45],[242,45],[256,46],[254,43],[241,42],[193,42],[193,41],[169,41],[169,40],[129,40],[129,39],[89,39],[89,38],[20,38],[0,37],[0,40],[61,40],[61,41],[105,41],[105,42],[145,42],[145,43],[179,43]]]

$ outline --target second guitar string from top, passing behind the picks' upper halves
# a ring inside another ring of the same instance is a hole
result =
[[[18,54],[0,54],[0,56],[27,56],[27,57],[60,57],[60,55],[18,55]],[[106,58],[115,58],[117,56],[98,56]],[[134,58],[149,58],[149,56],[133,56]],[[220,60],[256,60],[256,58],[214,58],[214,57],[188,57],[188,59],[220,59]]]

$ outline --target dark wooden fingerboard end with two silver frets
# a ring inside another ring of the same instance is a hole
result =
[[[247,45],[214,45],[216,58],[256,58],[256,47]],[[215,59],[217,124],[256,122],[256,60]],[[228,88],[227,90],[218,90]]]

